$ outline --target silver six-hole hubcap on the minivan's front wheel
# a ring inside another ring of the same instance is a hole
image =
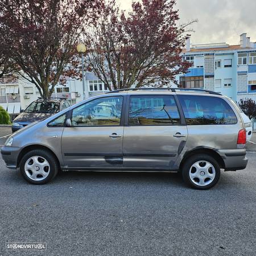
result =
[[[49,175],[50,166],[42,156],[31,156],[25,163],[25,173],[31,180],[40,181]]]

